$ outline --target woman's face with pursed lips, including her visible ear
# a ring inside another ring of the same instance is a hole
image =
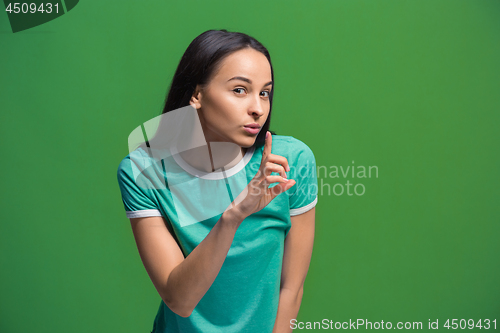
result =
[[[252,48],[233,52],[205,89],[198,88],[190,104],[198,109],[205,139],[251,147],[269,115],[272,81],[266,56]]]

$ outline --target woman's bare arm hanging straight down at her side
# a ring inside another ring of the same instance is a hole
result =
[[[290,320],[296,319],[299,313],[311,262],[315,214],[314,207],[304,214],[290,217],[292,226],[285,238],[280,299],[273,333],[292,332]]]

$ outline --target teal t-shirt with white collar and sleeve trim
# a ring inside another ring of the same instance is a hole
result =
[[[161,151],[137,148],[118,167],[126,215],[163,216],[186,257],[256,175],[263,149],[250,148],[233,167],[205,173],[175,150],[162,158]],[[272,332],[290,216],[316,205],[318,182],[314,154],[302,141],[273,135],[271,152],[287,158],[288,178],[296,184],[241,223],[219,274],[189,317],[160,302],[153,333]]]

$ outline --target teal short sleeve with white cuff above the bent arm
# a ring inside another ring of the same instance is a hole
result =
[[[127,157],[118,166],[118,185],[128,218],[162,216],[157,205],[147,195],[147,189],[137,185],[134,177],[135,164]],[[137,174],[137,172],[136,172]]]

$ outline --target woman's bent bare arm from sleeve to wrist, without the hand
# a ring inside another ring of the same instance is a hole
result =
[[[205,239],[184,258],[163,217],[131,218],[144,267],[165,304],[188,317],[214,282],[243,217],[225,211]]]

